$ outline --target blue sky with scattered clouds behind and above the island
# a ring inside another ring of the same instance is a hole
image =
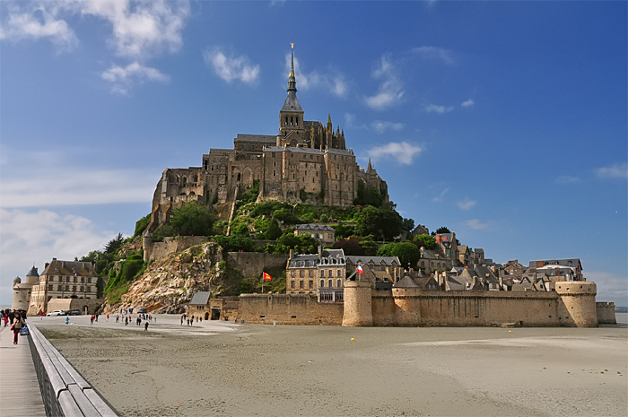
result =
[[[165,168],[308,120],[397,210],[496,262],[580,257],[628,305],[625,2],[0,4],[0,304],[149,213]]]

